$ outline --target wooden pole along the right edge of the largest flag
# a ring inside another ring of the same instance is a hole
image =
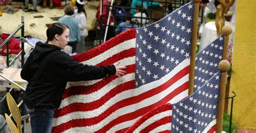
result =
[[[191,53],[190,53],[190,75],[189,75],[189,88],[188,95],[193,94],[194,87],[194,67],[196,64],[196,50],[197,50],[197,29],[198,29],[198,14],[199,14],[199,4],[201,0],[194,1],[194,17],[193,17],[193,27],[192,27],[192,43],[191,43]]]

